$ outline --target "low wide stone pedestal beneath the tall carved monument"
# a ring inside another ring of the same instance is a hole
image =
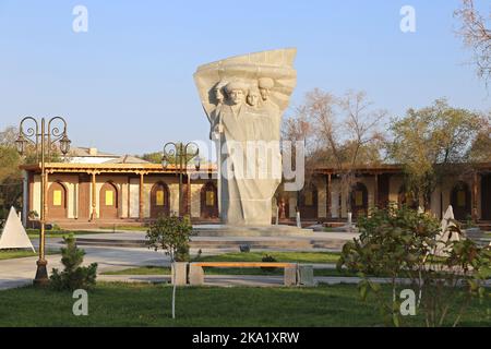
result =
[[[313,229],[302,229],[294,226],[194,226],[197,237],[311,237]]]

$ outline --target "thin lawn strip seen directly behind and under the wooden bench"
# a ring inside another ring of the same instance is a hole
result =
[[[283,269],[263,270],[261,268],[204,268],[206,275],[283,275]],[[117,272],[106,272],[103,275],[170,275],[169,267],[143,266]],[[314,269],[314,276],[356,276],[348,272],[336,269]]]

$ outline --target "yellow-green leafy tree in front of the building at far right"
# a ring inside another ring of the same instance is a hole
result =
[[[457,169],[463,172],[455,164],[470,163],[472,142],[483,122],[482,116],[453,108],[445,99],[419,110],[409,109],[404,118],[392,120],[394,140],[388,144],[388,155],[404,166],[407,188],[414,197],[423,198],[426,209],[443,176]]]

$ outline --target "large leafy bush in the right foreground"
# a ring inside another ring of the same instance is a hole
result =
[[[456,226],[451,225],[447,232],[462,237],[458,222],[453,222]],[[399,277],[407,278],[419,292],[418,309],[431,327],[448,321],[453,308],[456,326],[470,299],[486,296],[482,282],[491,274],[490,248],[481,249],[471,240],[443,240],[436,219],[406,207],[374,210],[358,226],[359,239],[343,246],[337,266],[358,273],[361,298],[373,292],[387,323],[400,324],[397,290],[408,287],[398,282]],[[392,299],[385,299],[369,275],[390,277]]]

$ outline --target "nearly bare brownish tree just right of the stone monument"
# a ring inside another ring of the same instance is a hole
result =
[[[350,209],[355,169],[380,158],[383,136],[378,128],[386,112],[373,110],[364,92],[348,92],[336,97],[315,88],[306,95],[306,103],[298,108],[298,115],[312,129],[312,165],[336,168]]]

